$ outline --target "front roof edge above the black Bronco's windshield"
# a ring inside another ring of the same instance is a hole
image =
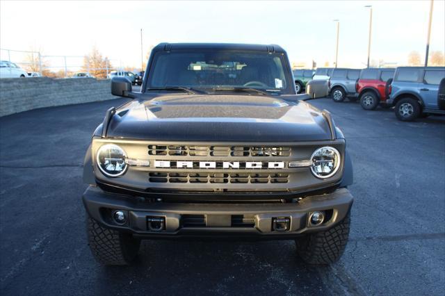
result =
[[[270,51],[284,53],[284,49],[277,44],[242,44],[242,43],[160,43],[154,51],[181,49],[220,49],[241,51]]]

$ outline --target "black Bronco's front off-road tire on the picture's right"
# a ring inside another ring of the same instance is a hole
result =
[[[329,265],[339,260],[348,242],[350,214],[329,230],[296,240],[297,253],[308,264]]]

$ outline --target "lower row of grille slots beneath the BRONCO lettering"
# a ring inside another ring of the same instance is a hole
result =
[[[149,172],[151,183],[288,183],[284,173]]]

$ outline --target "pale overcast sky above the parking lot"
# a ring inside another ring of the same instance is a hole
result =
[[[434,1],[430,51],[445,49],[445,6]],[[140,65],[159,42],[280,44],[293,62],[332,62],[340,20],[339,66],[366,63],[369,8],[371,59],[424,58],[430,1],[0,1],[1,49],[41,48],[83,56],[93,46],[123,65]],[[17,59],[18,56],[15,56]],[[1,59],[8,59],[1,51]],[[13,58],[11,58],[13,60]]]

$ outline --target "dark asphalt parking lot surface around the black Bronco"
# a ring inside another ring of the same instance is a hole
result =
[[[0,118],[1,295],[443,295],[445,117],[312,101],[334,116],[353,158],[346,252],[308,267],[294,243],[145,241],[138,263],[104,268],[86,242],[83,155],[124,99]]]

